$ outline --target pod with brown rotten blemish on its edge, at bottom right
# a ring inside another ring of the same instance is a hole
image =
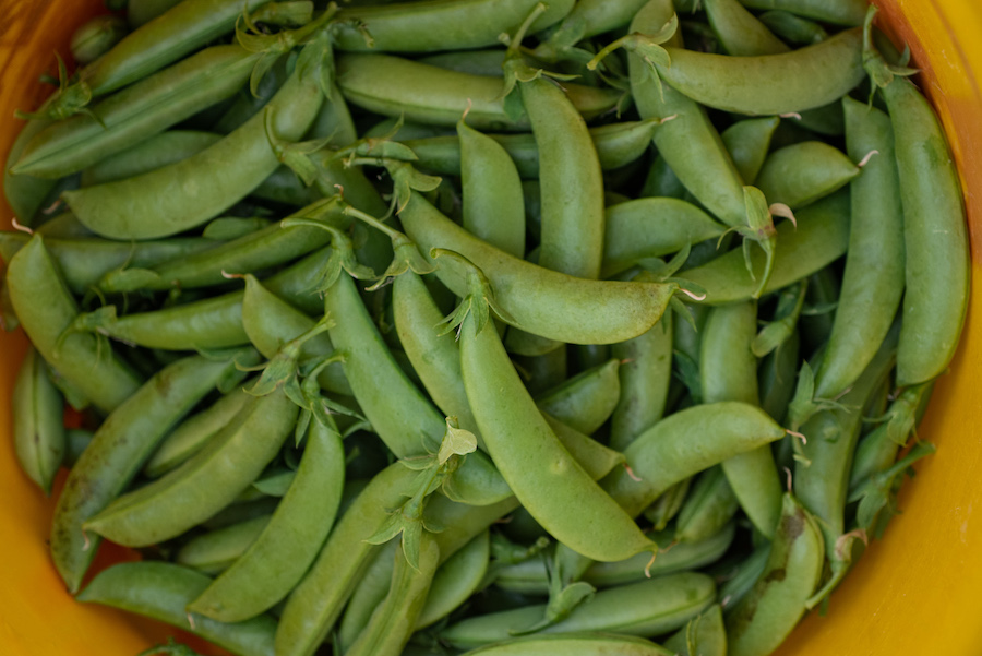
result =
[[[804,615],[824,563],[817,522],[790,492],[785,494],[764,573],[727,615],[727,653],[765,656],[776,649]]]

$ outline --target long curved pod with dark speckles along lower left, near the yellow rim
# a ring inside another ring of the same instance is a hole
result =
[[[98,538],[82,525],[140,472],[168,429],[233,371],[233,358],[178,360],[139,387],[103,422],[72,467],[55,506],[51,558],[70,592],[95,557]]]

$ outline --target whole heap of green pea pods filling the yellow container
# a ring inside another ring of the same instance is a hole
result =
[[[836,611],[969,285],[863,0],[118,4],[0,232],[80,601],[243,656],[763,656]]]

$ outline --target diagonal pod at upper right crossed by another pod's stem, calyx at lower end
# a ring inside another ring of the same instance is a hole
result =
[[[651,0],[637,12],[630,29],[656,34],[673,13],[670,0]],[[681,35],[669,43],[681,47]],[[745,224],[743,180],[706,110],[667,85],[660,93],[649,64],[640,56],[628,55],[627,63],[631,94],[642,118],[675,117],[655,132],[658,153],[709,212],[727,225]]]

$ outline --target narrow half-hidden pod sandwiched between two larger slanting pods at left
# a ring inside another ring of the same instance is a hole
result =
[[[239,387],[183,420],[154,451],[143,467],[143,475],[158,478],[201,451],[212,436],[231,421],[250,398],[252,396]]]

